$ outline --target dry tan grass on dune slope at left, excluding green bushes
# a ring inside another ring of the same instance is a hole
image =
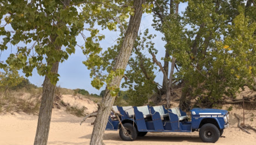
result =
[[[38,114],[40,109],[40,100],[43,92],[43,88],[32,88],[32,89],[20,89],[10,90],[9,92],[0,92],[0,114],[6,114],[14,112],[25,112],[27,114]],[[62,101],[62,95],[73,95],[74,90],[56,87],[55,90],[55,102],[54,108],[60,109],[61,107],[66,108],[66,111],[70,114],[78,117],[85,116],[84,110],[86,107],[70,106],[70,104]],[[81,98],[87,98],[94,102],[100,102],[101,97],[85,96],[82,94],[76,94]]]

